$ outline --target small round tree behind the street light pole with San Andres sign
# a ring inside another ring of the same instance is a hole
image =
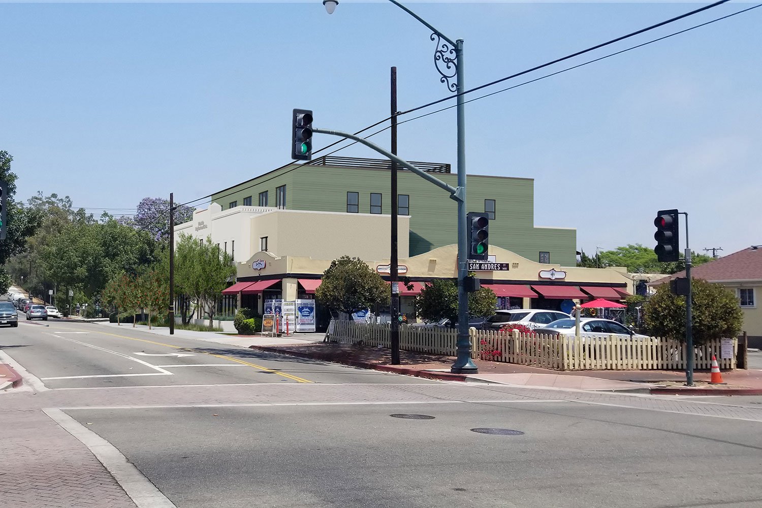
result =
[[[489,288],[469,293],[469,316],[491,316],[497,305],[498,297]],[[458,321],[458,286],[451,280],[437,279],[428,283],[415,297],[415,308],[425,321],[447,318],[455,323]]]

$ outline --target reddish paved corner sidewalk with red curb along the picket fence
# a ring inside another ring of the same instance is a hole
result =
[[[391,365],[389,350],[351,344],[312,343],[292,346],[252,345],[252,349],[302,358],[343,363],[363,369],[415,375],[450,381],[494,382],[536,388],[563,388],[591,391],[646,391],[664,395],[762,395],[762,371],[722,372],[724,385],[709,385],[708,371],[694,372],[695,387],[684,386],[682,371],[588,370],[555,371],[513,363],[475,360],[479,374],[450,373],[454,357],[400,352],[400,365]]]

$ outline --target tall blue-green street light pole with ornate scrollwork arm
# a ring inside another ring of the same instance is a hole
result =
[[[442,34],[439,30],[431,26],[423,18],[415,14],[405,5],[402,5],[396,0],[389,0],[392,4],[401,8],[403,11],[410,14],[413,18],[417,19],[424,24],[433,33],[429,37],[431,40],[437,41],[437,46],[434,49],[434,66],[437,72],[440,73],[440,81],[447,85],[447,89],[457,94],[457,171],[458,171],[458,187],[456,193],[451,193],[451,197],[458,202],[458,335],[457,335],[457,358],[453,366],[450,367],[450,372],[474,374],[479,372],[479,369],[471,360],[471,337],[469,337],[469,296],[466,292],[466,287],[463,285],[463,281],[468,275],[468,238],[466,235],[466,100],[463,92],[466,91],[466,81],[463,70],[463,39],[453,42],[450,38]],[[333,14],[338,0],[323,0],[328,14]],[[455,81],[453,82],[453,78]],[[392,115],[395,117],[395,115]],[[396,120],[395,118],[392,122]],[[317,132],[317,131],[314,131]],[[392,161],[395,161],[392,158]]]

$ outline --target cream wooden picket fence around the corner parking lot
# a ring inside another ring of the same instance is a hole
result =
[[[335,321],[329,340],[390,347],[389,326]],[[456,355],[457,331],[449,328],[399,327],[399,347],[404,351]],[[472,358],[517,363],[556,370],[669,370],[685,369],[687,348],[677,340],[648,337],[632,339],[610,335],[520,334],[471,330]],[[738,340],[733,339],[732,358],[722,359],[720,340],[696,348],[695,369],[710,369],[712,354],[721,369],[735,369]]]

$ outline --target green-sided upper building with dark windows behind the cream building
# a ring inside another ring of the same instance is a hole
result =
[[[411,164],[457,186],[457,175],[450,174],[450,165]],[[398,182],[402,196],[399,212],[411,216],[410,255],[457,243],[456,202],[444,190],[410,171],[399,171]],[[532,179],[469,174],[466,190],[469,212],[494,212],[489,225],[491,245],[530,260],[575,266],[576,229],[534,225]],[[406,208],[404,196],[408,196]],[[212,201],[223,209],[251,205],[389,215],[392,203],[389,161],[335,156],[315,158],[221,190],[213,195]]]

